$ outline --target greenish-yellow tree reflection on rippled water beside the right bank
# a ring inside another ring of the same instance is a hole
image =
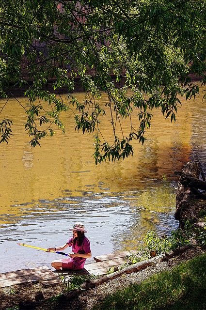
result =
[[[175,190],[170,182],[162,181],[141,191],[131,198],[130,207],[132,216],[121,231],[112,235],[114,251],[137,248],[149,230],[159,236],[169,235],[178,226],[174,219]]]

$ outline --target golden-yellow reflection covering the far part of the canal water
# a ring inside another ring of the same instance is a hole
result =
[[[82,93],[74,95],[84,98]],[[18,100],[23,105],[26,103],[25,98]],[[3,104],[2,100],[0,106]],[[143,146],[133,142],[133,157],[95,166],[93,135],[75,132],[73,116],[62,115],[65,135],[59,131],[54,137],[42,140],[41,147],[32,148],[30,138],[25,134],[25,111],[15,99],[10,99],[1,114],[1,117],[13,119],[15,125],[14,137],[9,144],[0,144],[0,213],[17,214],[19,205],[21,208],[28,208],[28,204],[41,206],[41,200],[65,197],[65,191],[71,196],[105,190],[115,195],[125,189],[145,189],[147,183],[148,191],[140,199],[148,205],[151,199],[155,200],[158,208],[162,197],[150,198],[150,180],[161,180],[163,174],[174,177],[173,171],[181,169],[183,162],[188,160],[192,104],[191,101],[184,102],[176,123],[172,124],[169,119],[164,120],[160,111],[152,111],[152,127],[146,135],[148,140]],[[201,104],[201,100],[196,104]],[[103,132],[110,137],[110,118],[104,117],[102,122]],[[127,129],[127,125],[127,120],[123,121],[123,127]]]

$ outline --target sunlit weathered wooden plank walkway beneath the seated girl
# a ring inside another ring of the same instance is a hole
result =
[[[60,283],[60,274],[65,273],[66,275],[72,274],[92,274],[95,276],[102,276],[108,273],[111,267],[118,267],[124,263],[128,263],[127,257],[131,253],[136,251],[122,251],[117,253],[105,254],[94,257],[96,263],[89,263],[84,265],[84,268],[79,271],[52,271],[47,266],[5,272],[0,274],[0,288],[12,286],[22,283],[32,283],[40,281],[44,285],[50,285]]]

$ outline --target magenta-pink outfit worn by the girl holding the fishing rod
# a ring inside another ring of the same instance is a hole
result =
[[[87,239],[87,237],[84,237],[80,247],[72,244],[73,237],[71,237],[66,243],[69,245],[69,247],[72,247],[72,252],[79,253],[79,254],[87,254],[91,252],[90,249],[90,242]],[[79,270],[84,268],[84,264],[86,262],[86,258],[82,257],[74,257],[74,258],[66,258],[62,260],[62,268],[63,269],[73,269],[73,270]]]

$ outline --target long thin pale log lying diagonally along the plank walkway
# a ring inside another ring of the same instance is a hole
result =
[[[139,270],[143,270],[146,267],[151,266],[152,264],[157,264],[159,262],[163,262],[168,260],[169,258],[183,253],[184,251],[186,251],[189,248],[189,246],[186,247],[182,247],[180,249],[174,250],[170,253],[165,253],[165,254],[160,254],[156,257],[153,257],[149,260],[143,261],[143,262],[139,262],[139,263],[135,263],[133,265],[129,265],[119,271],[113,272],[111,274],[105,275],[105,276],[100,276],[97,279],[94,280],[89,280],[83,284],[80,285],[79,289],[75,289],[73,291],[70,292],[66,292],[64,294],[62,294],[59,299],[61,302],[67,302],[68,300],[72,299],[73,297],[77,296],[77,294],[80,294],[82,292],[82,290],[88,290],[88,289],[92,289],[95,288],[96,286],[109,281],[111,279],[116,279],[118,277],[120,277],[122,274],[130,274],[132,272],[138,272]]]

